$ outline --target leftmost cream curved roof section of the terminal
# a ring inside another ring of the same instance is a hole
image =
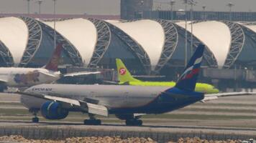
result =
[[[14,64],[19,64],[27,46],[27,25],[17,17],[4,17],[0,19],[0,31],[0,40],[12,53]]]

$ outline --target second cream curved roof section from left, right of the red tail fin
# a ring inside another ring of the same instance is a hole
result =
[[[54,27],[53,21],[44,21]],[[70,41],[81,54],[85,64],[89,64],[97,42],[96,27],[87,19],[68,19],[56,22],[56,31]]]

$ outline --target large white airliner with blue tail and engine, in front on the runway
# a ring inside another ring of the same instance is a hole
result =
[[[195,102],[218,97],[245,95],[203,94],[195,92],[203,58],[204,45],[199,45],[175,87],[138,87],[129,85],[40,84],[26,89],[21,102],[33,112],[32,122],[38,122],[37,112],[46,119],[64,119],[69,112],[87,113],[84,124],[101,124],[94,115],[114,114],[127,125],[142,125],[142,114],[162,114]]]

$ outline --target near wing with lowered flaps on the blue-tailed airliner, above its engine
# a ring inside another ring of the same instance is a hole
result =
[[[55,102],[63,102],[65,104],[70,104],[71,107],[75,106],[83,110],[86,110],[88,113],[91,113],[91,114],[99,114],[106,117],[109,116],[108,109],[105,106],[99,105],[99,104],[92,104],[92,103],[84,102],[77,99],[57,97],[57,96],[52,96],[47,94],[35,94],[35,93],[20,92],[20,91],[18,91],[17,94],[27,95],[30,97],[36,97],[40,99],[52,100]]]

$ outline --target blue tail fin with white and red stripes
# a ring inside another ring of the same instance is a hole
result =
[[[175,87],[191,92],[195,90],[203,54],[204,45],[199,44]]]

